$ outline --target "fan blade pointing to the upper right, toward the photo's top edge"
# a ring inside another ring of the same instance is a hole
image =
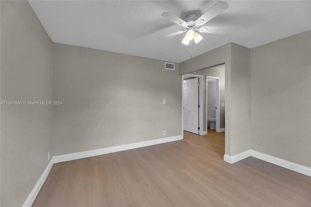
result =
[[[196,25],[203,25],[207,23],[210,19],[216,17],[223,11],[229,8],[228,4],[223,1],[218,1],[212,7],[210,7],[201,17],[199,17],[196,21]]]

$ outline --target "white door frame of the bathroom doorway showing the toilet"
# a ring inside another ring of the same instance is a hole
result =
[[[216,92],[215,92],[215,99],[216,99],[216,132],[220,132],[220,89],[219,89],[219,77],[214,77],[214,76],[206,76],[206,127],[207,127],[207,78],[209,79],[215,79],[215,87],[216,87]],[[207,130],[206,130],[207,131]]]

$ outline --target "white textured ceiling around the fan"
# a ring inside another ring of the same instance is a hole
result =
[[[206,12],[217,1],[29,0],[53,42],[173,62],[190,58],[184,34],[157,37],[181,29],[161,17],[171,11],[185,19]],[[229,8],[204,26],[226,27],[224,35],[201,34],[192,57],[229,42],[254,48],[311,30],[311,1],[225,1]]]

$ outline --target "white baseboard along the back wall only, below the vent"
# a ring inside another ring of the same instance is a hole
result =
[[[130,143],[130,144],[123,144],[123,145],[118,145],[118,146],[113,146],[113,147],[106,147],[106,148],[97,149],[97,150],[88,150],[88,151],[79,152],[79,153],[58,155],[58,156],[53,156],[53,158],[54,158],[54,163],[65,162],[69,160],[81,159],[81,158],[86,158],[90,156],[104,155],[104,154],[115,153],[115,152],[120,152],[124,150],[131,150],[131,149],[136,149],[139,147],[146,147],[150,145],[161,144],[161,143],[176,141],[180,139],[183,139],[183,138],[181,135],[178,135],[174,137],[158,138],[158,139],[140,141],[140,142],[135,142],[135,143]]]

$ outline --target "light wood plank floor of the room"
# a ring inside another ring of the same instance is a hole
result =
[[[311,178],[248,157],[223,160],[225,133],[54,164],[35,207],[310,207]]]

